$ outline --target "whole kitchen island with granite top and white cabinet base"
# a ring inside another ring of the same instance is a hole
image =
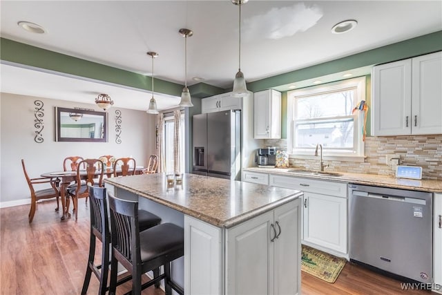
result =
[[[186,294],[298,294],[302,192],[185,174],[105,180],[162,222],[184,227],[184,264],[172,265]]]

